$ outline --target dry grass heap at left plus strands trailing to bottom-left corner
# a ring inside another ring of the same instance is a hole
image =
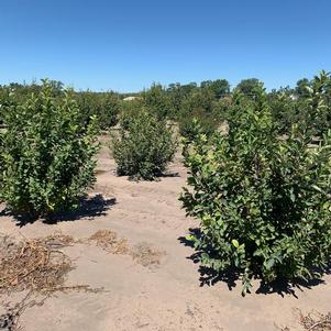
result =
[[[64,285],[73,265],[70,258],[59,250],[79,242],[62,233],[21,242],[0,235],[0,294],[27,290],[23,300],[13,307],[1,304],[4,313],[0,315],[0,330],[24,330],[20,326],[21,315],[26,308],[43,305],[55,291],[103,291],[103,288],[95,289],[89,285]],[[37,295],[42,295],[38,301],[33,299]]]

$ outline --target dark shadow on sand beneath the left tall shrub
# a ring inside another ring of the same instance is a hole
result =
[[[79,207],[74,210],[63,211],[58,213],[49,213],[44,216],[41,221],[45,224],[56,224],[65,221],[76,221],[82,218],[93,219],[96,217],[106,216],[107,210],[117,203],[115,198],[104,199],[102,195],[96,195],[91,198],[82,198],[79,201]],[[38,218],[33,216],[24,216],[12,212],[9,209],[0,211],[0,217],[10,216],[16,221],[18,227],[24,227],[35,222]]]

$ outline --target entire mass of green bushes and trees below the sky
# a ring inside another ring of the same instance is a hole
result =
[[[133,101],[56,81],[0,88],[0,200],[33,217],[75,208],[96,180],[97,135],[117,123],[118,174],[153,180],[179,124],[189,170],[180,197],[200,220],[202,265],[235,269],[243,293],[321,275],[331,256],[331,78],[266,92],[257,79],[153,85]],[[228,130],[220,130],[227,122]]]

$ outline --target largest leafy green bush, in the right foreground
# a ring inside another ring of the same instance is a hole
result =
[[[331,131],[315,147],[296,126],[280,140],[258,89],[233,113],[229,134],[196,134],[184,154],[192,189],[180,199],[201,222],[189,239],[202,265],[236,269],[243,294],[253,277],[310,279],[331,256]]]

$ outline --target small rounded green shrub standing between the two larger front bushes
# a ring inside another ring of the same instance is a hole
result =
[[[173,159],[176,143],[165,121],[141,110],[113,136],[112,148],[120,176],[153,180]]]

